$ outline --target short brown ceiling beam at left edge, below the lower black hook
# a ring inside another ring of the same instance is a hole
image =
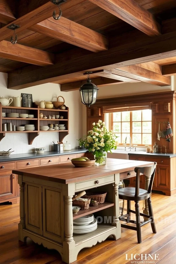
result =
[[[54,64],[54,54],[43,50],[27,47],[21,44],[11,44],[11,42],[2,40],[0,42],[0,57],[31,63],[39,66],[48,66]]]

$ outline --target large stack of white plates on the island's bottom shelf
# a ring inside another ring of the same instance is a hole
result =
[[[83,234],[89,233],[97,229],[97,219],[93,214],[79,217],[73,220],[73,233]]]

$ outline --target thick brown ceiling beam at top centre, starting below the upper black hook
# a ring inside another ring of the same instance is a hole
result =
[[[48,18],[29,29],[93,52],[108,50],[108,38],[64,17]]]

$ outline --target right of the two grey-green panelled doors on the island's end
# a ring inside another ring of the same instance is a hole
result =
[[[64,204],[61,189],[43,186],[43,236],[64,241]]]

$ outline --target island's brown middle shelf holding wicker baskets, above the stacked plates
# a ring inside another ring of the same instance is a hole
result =
[[[77,214],[73,214],[73,220],[77,219],[81,216],[93,214],[95,212],[98,212],[100,210],[112,207],[114,205],[115,205],[114,203],[104,202],[103,204],[98,204],[97,206],[90,206],[89,209],[86,209],[86,210],[79,210],[79,212],[77,212]]]

